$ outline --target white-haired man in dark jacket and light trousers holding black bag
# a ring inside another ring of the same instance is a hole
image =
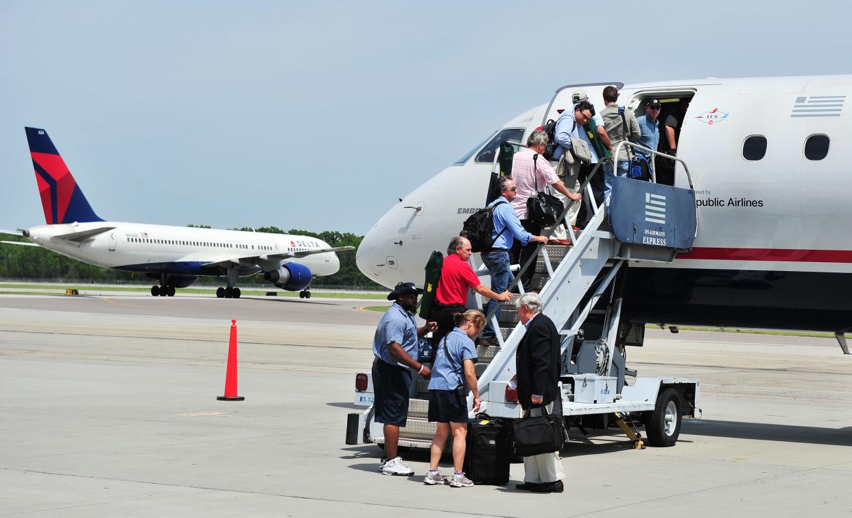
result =
[[[524,416],[541,415],[541,407],[553,412],[555,402],[561,403],[559,393],[560,339],[553,320],[541,314],[542,302],[538,293],[525,293],[515,308],[527,331],[518,345],[515,357],[515,377],[518,401]],[[560,409],[561,404],[557,406]],[[561,412],[561,409],[560,409]],[[524,483],[518,489],[533,492],[562,492],[565,472],[559,453],[543,453],[524,458]]]

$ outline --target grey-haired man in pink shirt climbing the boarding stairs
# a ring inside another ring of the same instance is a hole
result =
[[[578,200],[582,198],[582,195],[579,193],[572,193],[565,187],[559,176],[556,176],[553,166],[544,158],[542,153],[544,153],[548,141],[547,133],[536,129],[527,139],[527,147],[515,153],[515,156],[512,158],[512,180],[515,181],[518,194],[511,202],[512,208],[515,209],[518,219],[521,220],[521,226],[533,235],[539,235],[542,229],[527,220],[527,199],[533,196],[537,190],[544,191],[544,187],[549,185],[568,199]],[[557,223],[557,227],[560,225],[561,223]],[[550,240],[550,245],[570,244],[567,239]],[[523,266],[529,256],[535,253],[537,246],[536,243],[530,242],[527,246],[521,247],[520,243],[515,242],[513,255],[518,256],[520,252],[519,263]],[[529,285],[530,280],[533,279],[534,271],[535,268],[533,267],[527,268],[527,271],[521,275],[521,283]]]

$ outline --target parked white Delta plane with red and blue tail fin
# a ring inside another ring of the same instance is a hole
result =
[[[340,268],[335,252],[354,250],[300,235],[106,222],[92,210],[47,132],[26,128],[26,140],[47,224],[2,231],[31,241],[3,243],[43,246],[89,264],[146,273],[159,281],[153,296],[174,296],[176,288],[202,275],[224,275],[227,287],[220,286],[216,296],[239,298],[238,277],[263,272],[280,289],[310,298],[311,280]]]

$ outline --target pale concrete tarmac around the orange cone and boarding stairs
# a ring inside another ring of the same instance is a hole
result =
[[[852,516],[852,355],[837,342],[648,330],[628,365],[698,377],[671,448],[563,452],[561,494],[424,486],[344,444],[383,301],[0,296],[3,516]],[[239,395],[217,401],[231,319]],[[450,471],[449,458],[442,469]]]

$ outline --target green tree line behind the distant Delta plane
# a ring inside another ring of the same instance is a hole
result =
[[[207,225],[187,225],[187,227],[210,228]],[[361,243],[363,236],[355,235],[354,233],[341,233],[334,230],[326,230],[320,233],[308,232],[292,228],[284,231],[279,227],[259,227],[259,228],[232,228],[231,230],[242,230],[245,232],[265,232],[265,233],[290,233],[312,238],[322,239],[330,246],[354,246],[356,249]],[[21,236],[2,234],[0,239],[5,241],[25,241],[27,239]],[[355,252],[345,251],[338,252],[337,257],[340,258],[340,270],[334,275],[319,277],[316,279],[314,288],[320,286],[328,287],[353,287],[364,290],[381,290],[382,286],[367,279],[355,265]],[[92,283],[133,283],[133,282],[148,282],[144,274],[131,272],[122,272],[113,270],[112,268],[101,268],[92,264],[77,261],[71,257],[62,256],[54,251],[36,246],[20,246],[20,245],[0,245],[0,279],[32,279],[32,280],[61,280],[61,281],[77,281],[77,282],[92,282]],[[251,277],[240,279],[240,282],[245,285],[246,282],[257,285],[269,285],[263,280],[263,275],[257,274]],[[222,279],[215,277],[199,277],[199,284],[203,285],[220,285]]]

